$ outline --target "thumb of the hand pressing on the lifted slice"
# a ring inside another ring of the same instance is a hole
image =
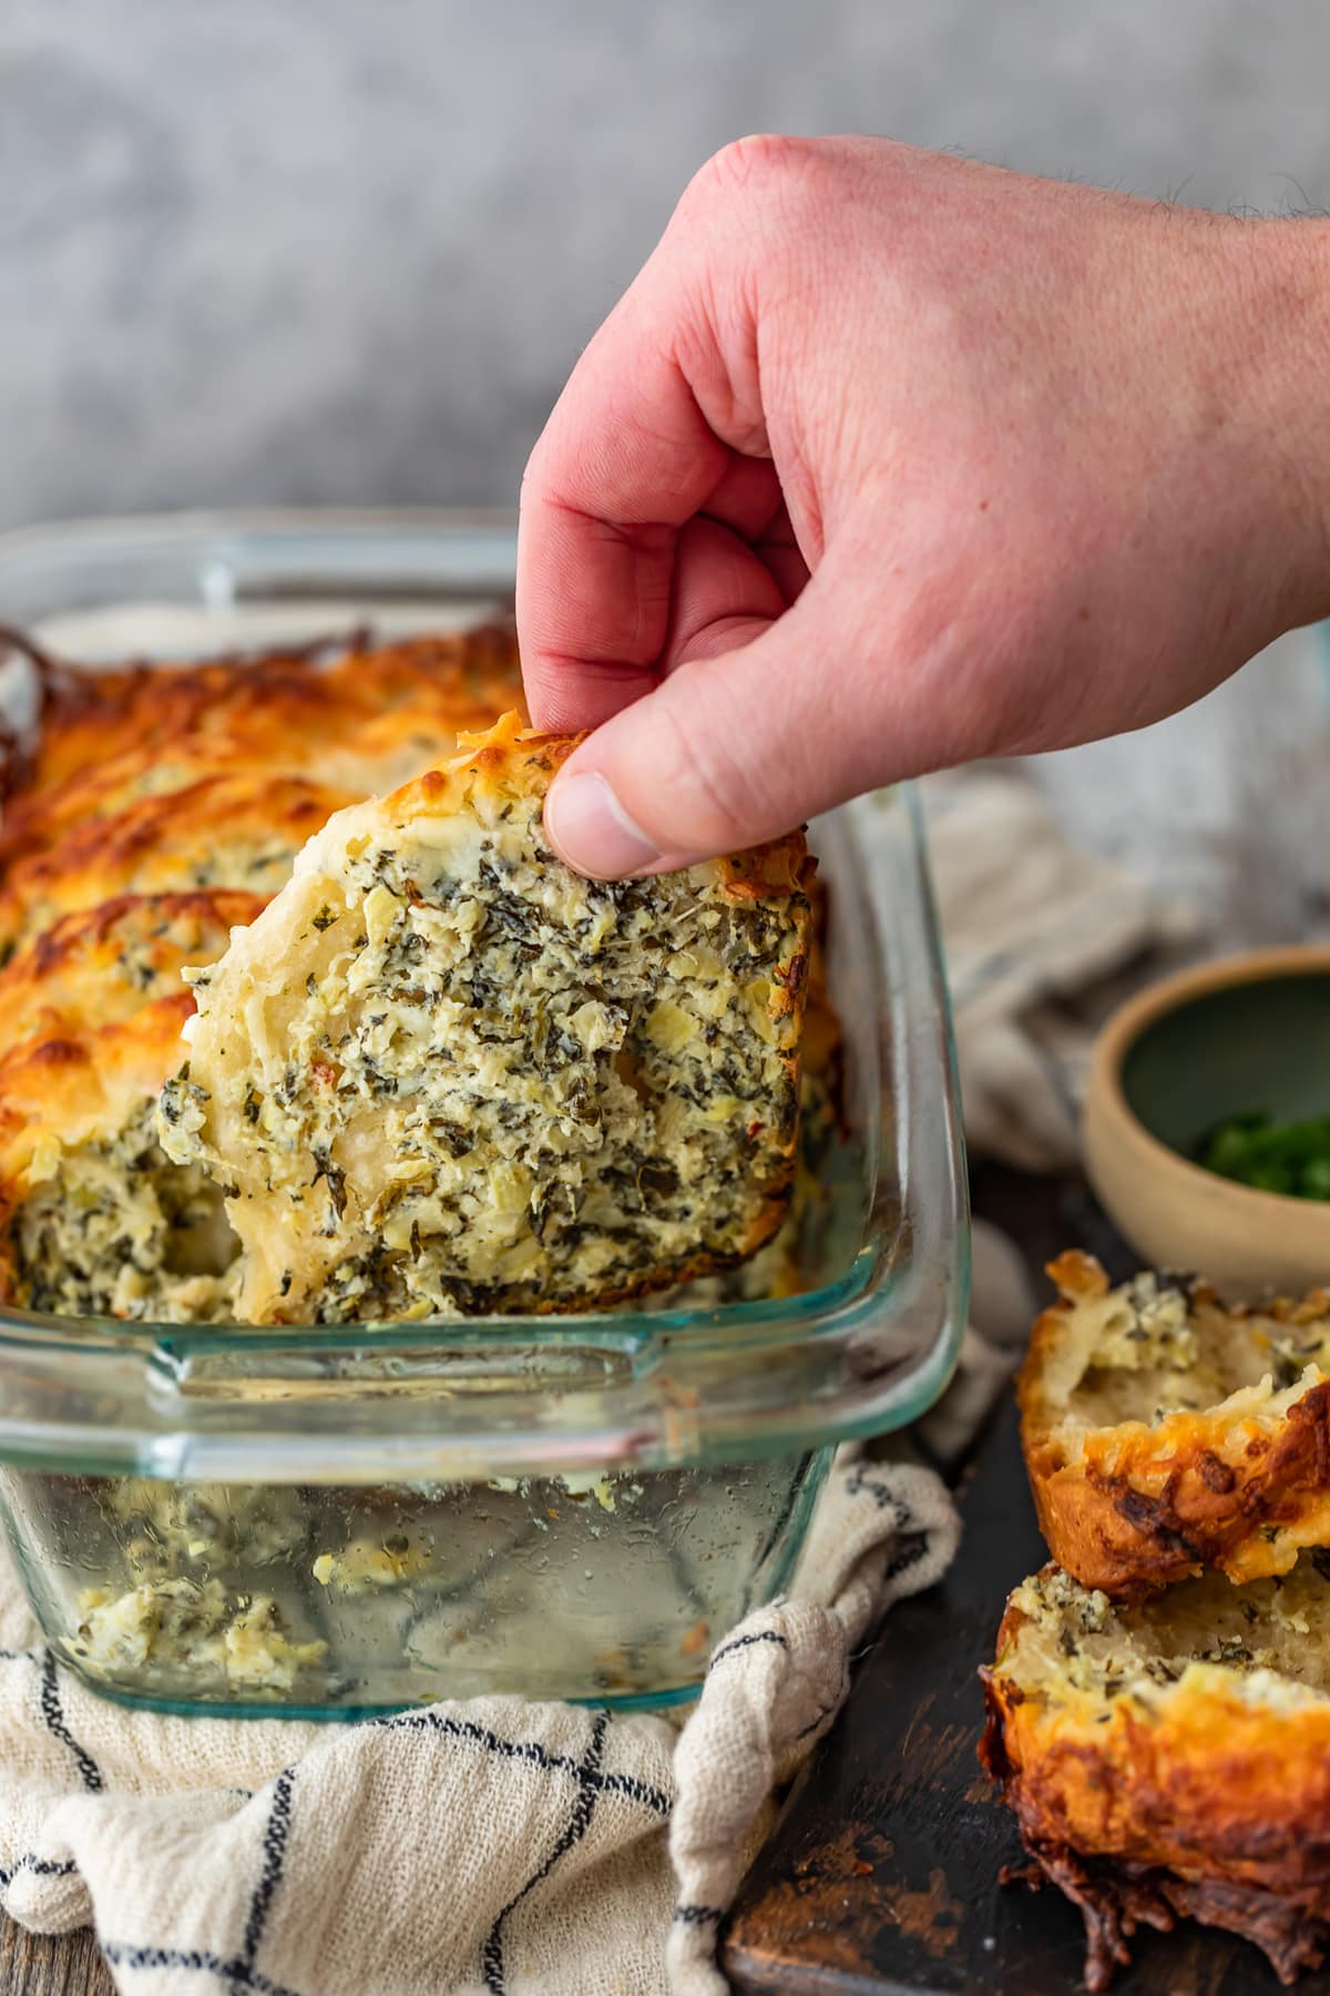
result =
[[[830,569],[752,643],[680,665],[568,756],[544,804],[568,866],[672,872],[923,766],[923,743],[895,737],[887,752],[883,675]]]

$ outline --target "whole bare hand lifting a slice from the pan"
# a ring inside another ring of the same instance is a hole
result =
[[[684,194],[522,487],[546,826],[678,866],[1186,705],[1324,615],[1326,232],[877,140]]]

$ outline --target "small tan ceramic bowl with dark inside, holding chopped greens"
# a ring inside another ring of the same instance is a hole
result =
[[[1149,986],[1095,1042],[1085,1164],[1143,1265],[1228,1301],[1330,1285],[1330,1204],[1256,1192],[1194,1162],[1214,1124],[1330,1114],[1330,948],[1258,950]]]

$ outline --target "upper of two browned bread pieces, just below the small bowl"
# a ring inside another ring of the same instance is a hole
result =
[[[1330,1295],[1226,1309],[1204,1283],[1119,1289],[1083,1253],[1019,1379],[1039,1527],[1115,1597],[1202,1567],[1284,1573],[1330,1545]]]

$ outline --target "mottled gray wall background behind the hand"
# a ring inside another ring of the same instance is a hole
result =
[[[1318,0],[0,0],[0,525],[514,495],[726,138],[1330,196]]]

